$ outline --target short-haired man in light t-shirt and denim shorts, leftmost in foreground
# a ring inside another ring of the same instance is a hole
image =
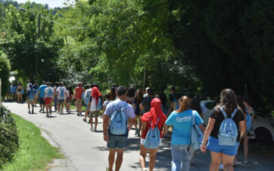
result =
[[[115,170],[120,170],[123,162],[124,148],[127,146],[128,132],[132,128],[135,118],[132,105],[125,102],[127,98],[125,87],[119,86],[119,88],[117,88],[116,95],[117,99],[108,104],[105,109],[105,116],[103,117],[103,140],[108,142],[108,148],[110,151],[108,155],[108,171],[112,171],[116,153],[117,157],[115,162]],[[110,118],[114,119],[112,114],[117,114],[116,112],[119,112],[119,114],[123,114],[125,116],[125,125],[121,125],[125,129],[123,130],[123,132],[125,132],[123,134],[117,134],[116,131],[118,131],[118,129],[115,127],[115,122],[110,122]],[[113,129],[110,129],[110,127]]]

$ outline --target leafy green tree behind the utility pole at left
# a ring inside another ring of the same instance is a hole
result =
[[[42,7],[42,5],[33,4],[32,13],[42,14],[40,38],[37,38],[37,18],[27,12],[16,10],[10,5],[5,11],[6,18],[3,30],[6,32],[1,47],[8,55],[12,70],[18,70],[23,77],[34,79],[35,75],[35,57],[38,55],[38,78],[57,81],[62,72],[57,66],[57,59],[60,49],[63,47],[64,40],[55,36],[53,23],[47,18],[53,19],[53,16]],[[30,3],[27,2],[23,8],[28,12]]]

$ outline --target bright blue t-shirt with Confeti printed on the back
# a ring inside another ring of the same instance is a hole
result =
[[[195,124],[202,124],[203,120],[195,111]],[[192,127],[192,109],[176,113],[173,111],[166,120],[167,125],[173,125],[171,145],[190,144],[190,130]]]

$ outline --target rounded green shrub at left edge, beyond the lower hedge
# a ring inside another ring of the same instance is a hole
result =
[[[4,96],[8,92],[10,78],[10,62],[5,53],[0,51],[0,78],[2,82],[1,95]]]

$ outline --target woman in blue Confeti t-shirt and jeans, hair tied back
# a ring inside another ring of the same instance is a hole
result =
[[[192,120],[195,119],[195,124],[204,133],[205,127],[203,120],[197,111],[190,109],[190,98],[182,96],[179,101],[179,109],[173,111],[166,120],[167,125],[173,126],[171,137],[171,154],[173,171],[188,171],[190,166],[190,157],[193,152],[190,150],[190,131],[192,128]],[[194,116],[194,118],[193,118]]]

